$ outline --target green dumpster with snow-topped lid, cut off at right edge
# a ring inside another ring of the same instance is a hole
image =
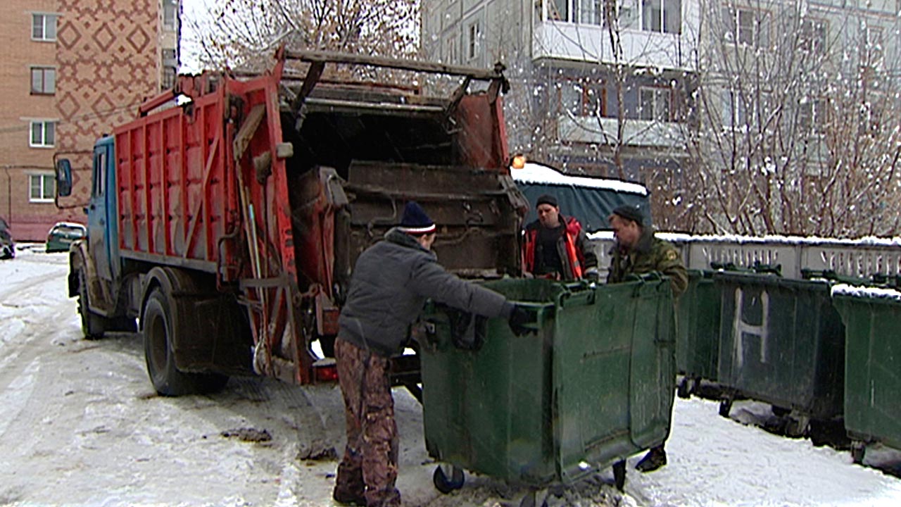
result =
[[[844,422],[852,453],[880,442],[901,450],[901,292],[838,285],[845,325]]]

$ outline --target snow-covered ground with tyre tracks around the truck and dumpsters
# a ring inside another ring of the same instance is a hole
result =
[[[233,379],[213,396],[160,398],[140,336],[80,337],[67,271],[65,253],[22,250],[0,262],[0,505],[332,505],[343,420],[335,386]],[[523,489],[487,477],[435,491],[422,410],[395,394],[405,505],[518,504]],[[901,479],[853,465],[847,451],[738,422],[767,413],[736,402],[724,419],[712,401],[677,400],[668,466],[642,475],[633,456],[624,497],[607,470],[548,504],[901,505]]]

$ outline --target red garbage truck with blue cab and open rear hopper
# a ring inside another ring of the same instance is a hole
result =
[[[406,200],[439,224],[449,270],[521,272],[527,204],[508,170],[502,67],[284,49],[275,61],[256,76],[181,76],[93,148],[69,295],[88,338],[140,323],[160,394],[250,372],[331,378],[311,344],[329,354],[354,262]],[[454,80],[435,97],[418,78],[341,78],[339,65]],[[77,168],[56,168],[64,197]]]

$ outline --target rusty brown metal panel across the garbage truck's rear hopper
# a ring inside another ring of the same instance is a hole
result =
[[[406,201],[416,200],[438,225],[433,247],[444,267],[486,277],[520,271],[524,198],[504,173],[354,162],[345,191],[352,260],[400,222]]]

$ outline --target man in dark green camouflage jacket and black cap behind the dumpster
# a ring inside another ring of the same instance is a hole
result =
[[[651,220],[640,207],[617,207],[609,220],[614,229],[616,244],[610,252],[607,283],[623,281],[630,274],[661,272],[669,277],[673,299],[678,298],[688,286],[688,273],[676,246],[654,235]],[[663,444],[660,444],[652,447],[635,468],[651,472],[666,464],[667,452]]]

